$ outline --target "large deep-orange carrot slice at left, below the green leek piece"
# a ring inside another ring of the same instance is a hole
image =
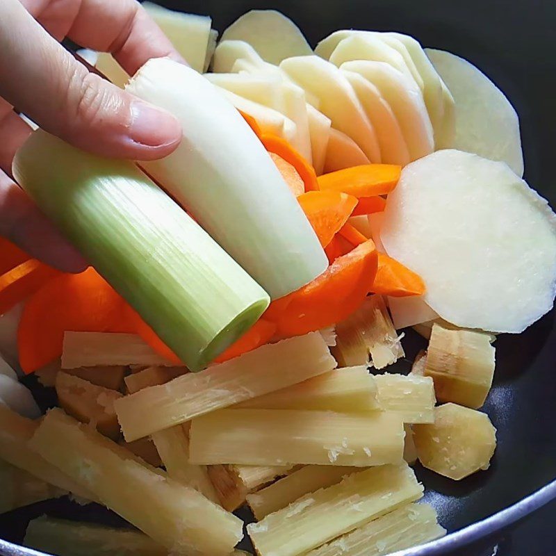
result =
[[[24,373],[62,354],[64,332],[133,332],[124,319],[125,302],[96,270],[60,274],[26,302],[17,329]]]

